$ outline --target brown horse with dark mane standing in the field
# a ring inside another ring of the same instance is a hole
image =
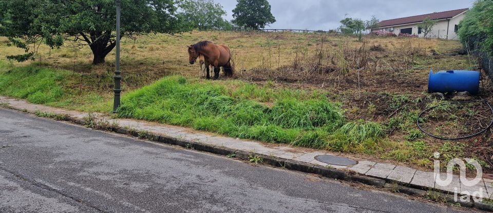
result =
[[[220,67],[226,76],[232,76],[235,72],[231,63],[231,50],[226,45],[216,45],[212,42],[203,41],[187,47],[190,64],[194,64],[200,55],[204,56],[207,79],[211,78],[209,74],[210,65],[214,67],[214,80],[219,78]]]

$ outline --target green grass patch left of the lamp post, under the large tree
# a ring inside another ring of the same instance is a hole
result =
[[[30,103],[88,112],[109,112],[111,103],[98,91],[85,91],[78,85],[97,84],[97,79],[81,83],[73,72],[40,68],[35,63],[10,67],[0,60],[0,95],[25,99]],[[108,95],[109,96],[109,95]]]

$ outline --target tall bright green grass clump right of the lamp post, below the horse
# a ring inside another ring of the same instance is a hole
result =
[[[243,85],[229,88],[168,76],[124,95],[119,115],[313,148],[325,147],[328,135],[346,123],[340,107],[326,97],[237,84]]]

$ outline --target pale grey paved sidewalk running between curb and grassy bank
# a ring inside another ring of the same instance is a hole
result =
[[[43,112],[53,112],[59,114],[67,114],[71,118],[82,119],[88,115],[88,113],[64,110],[54,107],[47,107],[43,105],[30,104],[23,100],[16,100],[0,96],[0,104],[6,103],[10,107],[20,110],[26,110],[28,112],[35,112],[37,110]],[[102,114],[98,114],[100,118],[104,117]],[[242,150],[247,152],[253,152],[257,154],[263,154],[266,156],[278,157],[281,159],[289,159],[299,162],[305,162],[313,165],[319,165],[324,167],[332,167],[336,169],[351,170],[362,175],[381,178],[387,182],[398,182],[402,185],[411,185],[419,188],[434,188],[448,192],[473,192],[482,191],[480,197],[491,198],[493,197],[493,180],[482,179],[481,182],[474,187],[465,186],[460,181],[459,176],[454,176],[453,181],[446,187],[435,184],[434,173],[416,170],[411,167],[379,163],[373,161],[367,161],[364,159],[351,158],[358,163],[354,166],[338,166],[330,165],[323,162],[319,162],[314,158],[323,154],[329,154],[332,156],[339,155],[338,153],[332,153],[325,150],[315,150],[307,148],[290,147],[287,145],[279,144],[267,144],[256,141],[240,140],[222,137],[213,133],[199,132],[189,128],[164,125],[160,123],[138,121],[131,119],[110,119],[108,121],[118,121],[122,127],[134,129],[135,131],[148,131],[159,135],[166,135],[170,138],[177,140],[188,140],[194,142],[200,142],[203,144],[213,145],[216,147],[226,147],[232,150]],[[347,157],[347,156],[345,156]],[[445,179],[446,173],[441,174],[442,180]],[[457,189],[457,191],[456,191]],[[463,193],[461,193],[463,194]]]

